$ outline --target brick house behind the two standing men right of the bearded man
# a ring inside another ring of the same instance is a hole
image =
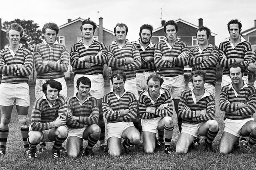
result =
[[[203,19],[198,19],[198,26],[182,19],[178,19],[175,21],[178,24],[178,34],[177,39],[180,41],[185,42],[189,48],[197,46],[197,39],[196,39],[196,29],[203,25]],[[165,21],[162,21],[162,26],[153,30],[153,36],[151,41],[154,43],[158,43],[164,40],[164,24]],[[217,34],[211,32],[212,36],[209,39],[209,43],[215,45],[215,36]]]

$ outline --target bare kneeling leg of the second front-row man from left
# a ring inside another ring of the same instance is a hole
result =
[[[76,136],[70,136],[67,139],[67,154],[70,158],[76,158],[80,152],[82,139]]]

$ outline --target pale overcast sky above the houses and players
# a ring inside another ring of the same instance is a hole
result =
[[[138,39],[139,28],[150,23],[154,29],[162,20],[179,18],[194,25],[203,18],[203,25],[216,33],[216,45],[229,36],[227,23],[237,18],[242,21],[242,31],[254,27],[256,0],[5,0],[1,1],[2,22],[16,18],[33,20],[40,29],[52,21],[58,25],[70,18],[91,20],[98,24],[103,18],[103,27],[113,31],[116,23],[126,23],[127,39]],[[99,12],[99,13],[98,13]]]

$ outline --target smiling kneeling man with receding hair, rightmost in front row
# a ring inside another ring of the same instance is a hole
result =
[[[232,152],[242,135],[249,136],[245,152],[253,154],[252,147],[256,144],[256,122],[252,114],[256,110],[256,90],[242,79],[243,66],[240,63],[233,63],[228,71],[232,82],[223,86],[220,91],[220,110],[225,112],[220,153]]]

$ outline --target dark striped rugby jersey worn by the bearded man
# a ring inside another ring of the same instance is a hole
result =
[[[136,70],[136,72],[147,72],[147,71],[156,71],[156,66],[153,61],[145,61],[144,57],[154,57],[154,51],[156,44],[152,43],[150,41],[149,45],[144,49],[144,47],[140,44],[140,39],[138,41],[132,42],[136,45],[140,52],[140,57],[141,57],[141,68]]]

